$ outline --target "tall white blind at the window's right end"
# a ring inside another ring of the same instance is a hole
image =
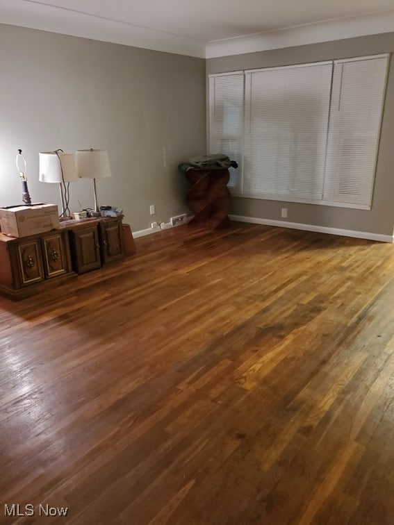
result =
[[[334,65],[325,199],[370,208],[388,58]]]

